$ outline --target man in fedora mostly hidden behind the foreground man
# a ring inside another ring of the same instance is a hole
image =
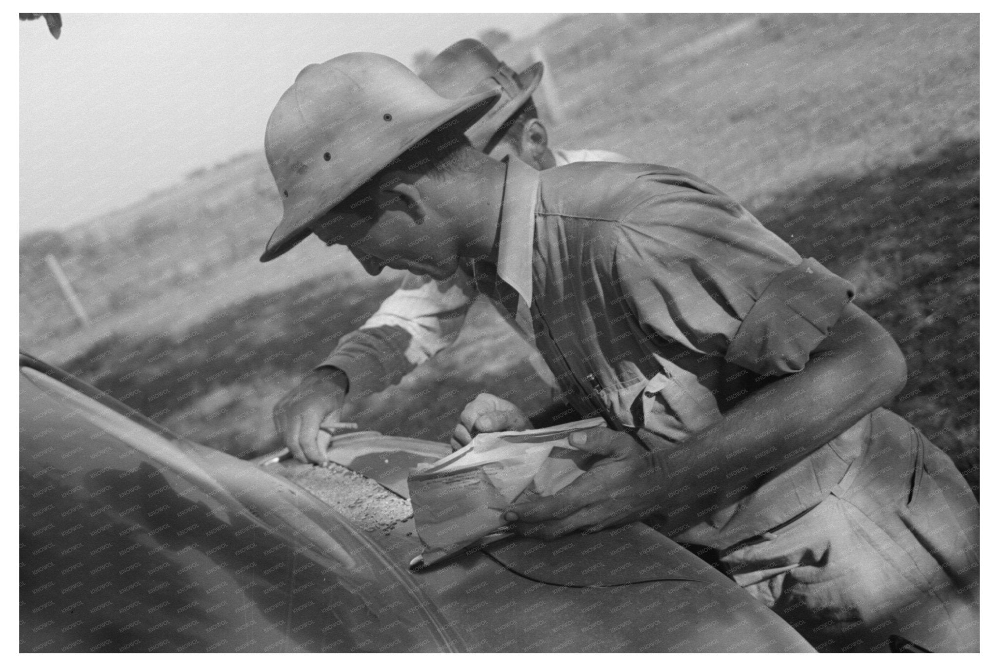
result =
[[[543,69],[538,62],[517,73],[482,42],[463,39],[442,51],[420,76],[450,99],[486,90],[500,95],[465,133],[474,148],[494,158],[514,155],[534,169],[573,162],[628,162],[609,151],[548,147],[547,130],[531,99]],[[325,462],[320,423],[331,415],[339,418],[349,395],[385,389],[454,342],[475,295],[462,270],[440,282],[430,276],[408,276],[360,330],[341,337],[333,352],[275,406],[275,424],[293,453],[300,459]],[[531,360],[540,364],[535,356]],[[549,382],[557,382],[543,365],[536,369]],[[571,413],[565,407],[559,403],[548,413]],[[490,418],[496,425],[486,427]],[[466,444],[479,431],[506,429],[509,419],[520,424],[511,403],[483,394],[463,412],[454,443]]]

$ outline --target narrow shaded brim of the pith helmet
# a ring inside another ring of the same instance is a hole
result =
[[[500,93],[494,90],[468,95],[457,100],[441,98],[441,109],[431,114],[426,119],[426,123],[422,123],[421,125],[429,129],[414,133],[412,138],[404,141],[396,150],[387,152],[379,160],[371,161],[366,169],[350,178],[344,187],[338,188],[337,192],[331,192],[330,197],[322,205],[317,206],[315,210],[305,211],[296,215],[288,215],[286,213],[281,224],[274,230],[270,240],[267,242],[267,248],[264,250],[264,254],[261,255],[260,261],[262,263],[270,262],[273,259],[281,257],[299,243],[302,243],[302,241],[312,234],[310,226],[313,223],[321,220],[334,207],[350,197],[358,188],[370,181],[372,177],[392,164],[396,158],[406,153],[406,151],[413,148],[417,143],[452,123],[456,131],[472,127],[493,108],[499,99]]]

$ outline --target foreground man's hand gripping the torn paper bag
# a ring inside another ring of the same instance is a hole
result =
[[[547,540],[641,520],[664,508],[662,469],[631,435],[599,428],[573,432],[568,441],[602,457],[554,495],[510,506],[505,518],[518,532]]]

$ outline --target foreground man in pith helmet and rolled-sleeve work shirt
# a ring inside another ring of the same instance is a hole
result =
[[[372,273],[462,269],[509,313],[609,427],[574,433],[597,461],[506,519],[541,538],[640,519],[713,548],[823,650],[976,650],[977,502],[880,407],[905,360],[849,283],[682,171],[476,151],[495,95],[448,100],[401,68],[348,54],[279,102],[290,197],[264,258],[314,233]]]

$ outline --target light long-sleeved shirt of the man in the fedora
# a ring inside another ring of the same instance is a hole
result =
[[[551,154],[556,167],[575,162],[631,162],[619,153],[601,150],[556,149]],[[340,338],[320,365],[343,369],[354,394],[384,390],[458,338],[476,295],[465,271],[440,282],[408,275],[358,331]],[[554,386],[554,377],[536,354],[528,361]]]

